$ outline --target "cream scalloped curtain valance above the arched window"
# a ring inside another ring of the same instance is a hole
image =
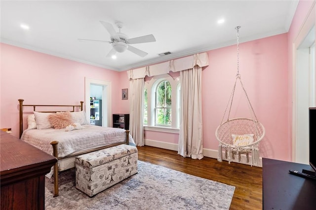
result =
[[[146,75],[156,76],[169,73],[169,71],[176,72],[181,70],[193,69],[194,66],[208,66],[208,54],[206,52],[197,53],[184,58],[178,58],[151,66],[128,70],[127,76],[128,79],[139,79],[145,78]]]

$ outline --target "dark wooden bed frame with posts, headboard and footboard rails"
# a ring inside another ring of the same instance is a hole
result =
[[[20,103],[20,123],[19,123],[19,131],[20,131],[20,139],[21,139],[21,136],[22,136],[22,133],[23,133],[23,107],[24,106],[33,106],[33,111],[38,111],[36,110],[37,107],[43,107],[43,106],[48,106],[48,107],[72,107],[72,110],[66,110],[66,111],[71,111],[71,112],[74,112],[76,107],[80,107],[80,111],[83,110],[83,102],[80,101],[80,105],[24,105],[23,104],[23,101],[24,99],[19,99],[18,100],[19,103]],[[47,113],[56,113],[56,112],[60,112],[61,110],[52,110],[52,111],[38,111],[38,112],[47,112]],[[75,158],[76,156],[78,155],[81,155],[81,154],[86,154],[86,153],[89,153],[89,152],[93,152],[93,151],[97,151],[97,150],[101,150],[101,149],[105,149],[105,148],[108,148],[108,147],[112,147],[112,146],[117,146],[119,144],[129,144],[129,130],[126,130],[126,141],[125,142],[120,142],[120,143],[113,143],[113,144],[109,144],[109,145],[106,145],[106,146],[101,146],[101,147],[96,147],[96,148],[92,148],[92,149],[86,149],[84,151],[80,151],[80,152],[74,152],[68,156],[65,156],[65,157],[62,157],[62,158],[59,158],[58,157],[58,141],[52,141],[50,142],[50,144],[52,145],[53,147],[53,155],[54,157],[57,159],[57,162],[55,163],[54,165],[54,170],[53,170],[53,175],[54,175],[54,197],[57,197],[59,195],[59,190],[58,190],[58,160],[62,160],[62,159],[65,159],[65,158],[70,158],[70,157],[73,157]]]

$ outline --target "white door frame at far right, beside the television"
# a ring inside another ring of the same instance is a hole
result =
[[[312,33],[314,40],[308,39],[310,33]],[[309,91],[311,87],[308,74],[311,67],[315,66],[315,64],[310,65],[309,47],[313,43],[315,43],[315,1],[292,45],[292,161],[304,164],[309,164],[308,106],[310,105],[311,94]]]

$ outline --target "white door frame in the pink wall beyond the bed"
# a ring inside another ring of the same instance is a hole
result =
[[[85,103],[85,114],[87,119],[90,119],[90,85],[101,85],[103,86],[102,91],[102,125],[105,127],[112,127],[112,84],[111,81],[104,81],[99,79],[92,79],[85,77],[85,94],[84,94],[84,103]],[[105,103],[106,102],[106,103]]]

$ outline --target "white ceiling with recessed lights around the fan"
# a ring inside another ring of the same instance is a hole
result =
[[[128,70],[289,30],[298,0],[1,0],[1,42],[110,70]],[[225,19],[222,25],[217,21]],[[122,22],[129,38],[153,34],[156,42],[133,44],[144,58],[125,51],[107,58],[111,44],[100,21]],[[29,30],[20,25],[26,24]],[[172,54],[160,57],[159,53]]]

